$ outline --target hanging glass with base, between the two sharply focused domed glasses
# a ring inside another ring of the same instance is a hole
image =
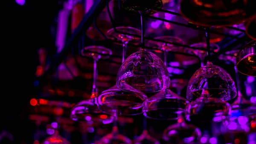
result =
[[[179,38],[171,38],[171,40],[168,40],[171,43],[175,43],[177,41],[182,43],[182,40]],[[166,46],[161,43],[158,45],[160,46],[159,49],[163,49],[164,61],[166,64],[166,52],[172,50],[172,46]],[[178,48],[174,46],[173,50],[175,49],[178,50]],[[144,116],[151,119],[177,120],[178,114],[184,112],[184,109],[188,103],[189,101],[187,101],[185,98],[182,98],[180,95],[172,92],[169,88],[166,88],[148,98],[148,106],[145,107]]]

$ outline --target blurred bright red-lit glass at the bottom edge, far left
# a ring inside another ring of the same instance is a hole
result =
[[[71,144],[65,138],[59,135],[58,130],[54,130],[54,133],[47,137],[42,144]]]

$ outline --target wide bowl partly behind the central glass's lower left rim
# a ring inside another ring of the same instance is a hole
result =
[[[108,107],[114,107],[118,115],[138,115],[143,112],[143,107],[147,105],[147,96],[124,84],[124,90],[117,86],[105,90],[98,96],[99,109],[106,112]]]

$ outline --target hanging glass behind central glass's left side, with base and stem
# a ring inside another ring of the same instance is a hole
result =
[[[126,32],[134,35],[140,35],[140,30],[133,27],[116,27],[119,32]],[[125,53],[128,43],[138,44],[140,38],[130,35],[123,35],[115,32],[114,29],[108,30],[107,37],[112,40],[120,40],[123,43],[122,63],[125,60]],[[106,112],[104,106],[114,107],[118,115],[137,115],[142,113],[143,107],[147,102],[147,96],[142,92],[134,89],[128,84],[122,87],[124,90],[119,89],[117,86],[105,90],[98,96],[98,106],[103,112]],[[108,108],[108,107],[107,107]],[[108,110],[108,109],[107,109]]]

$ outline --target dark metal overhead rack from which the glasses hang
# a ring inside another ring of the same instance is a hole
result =
[[[111,24],[113,26],[113,29],[116,32],[118,32],[120,34],[131,35],[131,36],[134,36],[134,37],[140,37],[140,35],[132,35],[132,34],[124,33],[124,32],[119,32],[115,29],[116,26],[113,23],[113,17],[111,16],[111,12],[110,12],[110,9],[109,9],[109,4],[108,4],[109,1],[110,0],[96,0],[95,1],[95,3],[93,4],[93,6],[89,10],[89,12],[86,15],[84,15],[83,19],[81,20],[79,26],[76,28],[73,35],[71,35],[71,37],[65,43],[65,46],[62,49],[62,51],[54,56],[54,58],[52,60],[52,63],[50,64],[50,67],[49,67],[47,72],[52,72],[52,70],[55,67],[57,67],[62,62],[62,60],[64,60],[65,56],[68,55],[68,53],[71,51],[71,48],[72,48],[73,44],[76,43],[76,42],[79,43],[79,38],[81,38],[81,37],[84,38],[85,31],[90,27],[90,25],[92,23],[94,24],[95,29],[98,30],[98,32],[106,39],[106,41],[111,41],[112,43],[113,42],[121,43],[119,41],[113,41],[113,40],[107,39],[107,37],[101,32],[100,28],[96,25],[96,17],[99,16],[99,14],[102,12],[102,10],[105,7],[107,8],[107,12],[108,12]],[[181,15],[177,12],[172,12],[172,11],[165,10],[165,9],[154,9],[154,10],[159,11],[159,12],[168,13],[168,14],[173,14],[175,16],[181,17]],[[172,23],[172,24],[175,24],[175,25],[178,25],[178,26],[183,26],[183,27],[190,28],[190,29],[196,29],[196,30],[199,30],[199,31],[204,31],[204,28],[195,26],[192,23],[184,24],[184,23],[179,23],[179,22],[172,21],[172,20],[166,20],[166,19],[163,19],[163,18],[160,18],[160,17],[154,17],[154,16],[150,16],[150,15],[148,15],[147,17],[150,18],[150,19],[161,20],[163,22]],[[225,36],[225,37],[229,38],[229,40],[225,41],[225,43],[220,46],[221,50],[219,52],[215,53],[213,55],[213,58],[217,58],[218,55],[224,54],[225,52],[230,51],[232,49],[238,49],[241,46],[243,46],[246,41],[250,40],[245,35],[245,31],[242,30],[242,29],[238,29],[238,28],[235,28],[235,27],[232,27],[232,26],[226,26],[225,28],[236,30],[236,31],[239,31],[239,32],[242,32],[242,33],[240,35],[230,35],[230,34],[216,32],[216,31],[211,29],[209,31],[210,33]],[[158,41],[158,42],[162,42],[162,43],[169,43],[169,42],[166,42],[164,40],[155,40],[154,38],[151,38],[151,37],[145,37],[145,39],[146,40],[154,40],[154,41]],[[203,49],[203,48],[191,47],[189,45],[183,45],[183,44],[179,44],[179,43],[169,43],[169,44],[173,44],[175,46],[187,47],[187,48],[190,48],[190,49],[200,49],[202,51],[206,50],[206,49]],[[131,45],[131,44],[128,44],[128,45]],[[79,47],[81,47],[81,46],[84,46],[83,41],[82,41],[82,43],[79,43]],[[149,49],[153,49],[153,48],[149,48]],[[80,52],[80,50],[79,50],[79,52]],[[120,58],[120,56],[113,56],[113,55],[111,57],[112,58],[113,57]],[[117,63],[117,64],[121,64],[121,63]]]

